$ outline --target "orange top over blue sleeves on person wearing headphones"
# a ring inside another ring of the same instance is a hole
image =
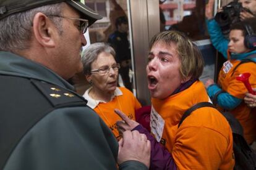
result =
[[[237,97],[239,99],[244,99],[244,95],[247,92],[246,87],[242,83],[242,81],[238,81],[236,76],[241,73],[250,73],[250,84],[252,87],[256,87],[256,64],[253,62],[243,63],[236,68],[241,61],[239,60],[229,60],[233,67],[225,73],[223,68],[219,73],[218,84],[221,88],[228,92],[229,94]],[[232,75],[232,73],[234,74]],[[239,120],[243,129],[244,129],[244,137],[247,140],[248,144],[251,144],[256,140],[256,113],[252,110],[252,108],[247,107],[247,105],[242,102],[238,107],[230,110],[230,112]]]

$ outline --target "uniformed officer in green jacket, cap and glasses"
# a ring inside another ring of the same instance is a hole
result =
[[[66,81],[101,18],[80,1],[0,0],[0,169],[148,169],[147,137],[118,144]]]

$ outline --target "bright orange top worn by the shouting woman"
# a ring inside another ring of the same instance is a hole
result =
[[[209,100],[200,81],[167,99],[151,99],[165,122],[161,143],[172,153],[178,169],[233,169],[231,127],[216,109],[198,108],[177,128],[187,109]]]

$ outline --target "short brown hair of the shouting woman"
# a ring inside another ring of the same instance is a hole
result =
[[[203,57],[197,45],[194,44],[186,35],[179,31],[163,31],[155,34],[150,41],[149,49],[157,43],[163,42],[166,45],[176,44],[177,54],[181,60],[179,72],[183,79],[191,77],[198,79],[203,72]]]

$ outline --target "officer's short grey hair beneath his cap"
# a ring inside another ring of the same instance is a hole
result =
[[[29,49],[32,35],[33,17],[36,13],[45,15],[60,15],[62,3],[36,7],[25,12],[10,15],[0,20],[0,51],[15,52]],[[62,33],[62,18],[51,17],[54,24]]]

